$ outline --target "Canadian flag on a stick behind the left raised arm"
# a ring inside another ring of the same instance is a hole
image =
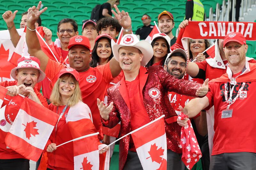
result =
[[[26,43],[26,30],[27,30],[27,27],[25,27],[24,32],[22,33],[20,40],[12,54],[12,57],[10,58],[10,60],[8,60],[10,63],[12,63],[14,65],[17,65],[17,61],[20,57],[29,56],[28,46]],[[37,34],[37,37],[38,37],[38,40],[39,40],[41,46],[43,46],[43,45],[45,46],[46,42],[43,39],[43,36],[44,36],[43,26],[39,26],[36,28],[36,34]],[[46,45],[46,46],[48,46],[48,45]],[[48,46],[48,48],[49,48],[49,46]],[[56,59],[56,57],[53,53],[50,55],[44,48],[42,48],[42,50],[49,58],[54,57]],[[49,48],[49,50],[51,51],[50,48]],[[58,62],[57,59],[56,59],[56,61]]]

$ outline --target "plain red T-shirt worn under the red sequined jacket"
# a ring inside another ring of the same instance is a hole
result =
[[[140,95],[139,75],[133,81],[126,81],[126,88],[131,106],[131,131],[150,122],[148,112],[144,107],[143,98]],[[130,140],[130,150],[136,152],[133,141]]]

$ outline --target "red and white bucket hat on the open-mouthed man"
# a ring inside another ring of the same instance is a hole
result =
[[[16,78],[16,70],[21,68],[33,68],[39,70],[40,74],[38,77],[37,82],[42,81],[45,78],[44,71],[40,69],[40,60],[33,56],[24,56],[20,57],[17,61],[17,67],[13,68],[11,70],[11,76],[14,80],[17,80]]]

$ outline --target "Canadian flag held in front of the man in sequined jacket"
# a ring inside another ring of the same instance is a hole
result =
[[[143,169],[166,170],[167,144],[164,118],[152,122],[132,133],[132,140]]]

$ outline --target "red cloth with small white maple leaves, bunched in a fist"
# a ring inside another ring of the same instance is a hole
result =
[[[178,118],[184,120],[188,118],[188,116],[180,112]],[[196,162],[202,157],[202,153],[190,120],[188,120],[188,125],[186,127],[181,128],[180,147],[182,148],[181,160],[188,169],[192,169]]]

